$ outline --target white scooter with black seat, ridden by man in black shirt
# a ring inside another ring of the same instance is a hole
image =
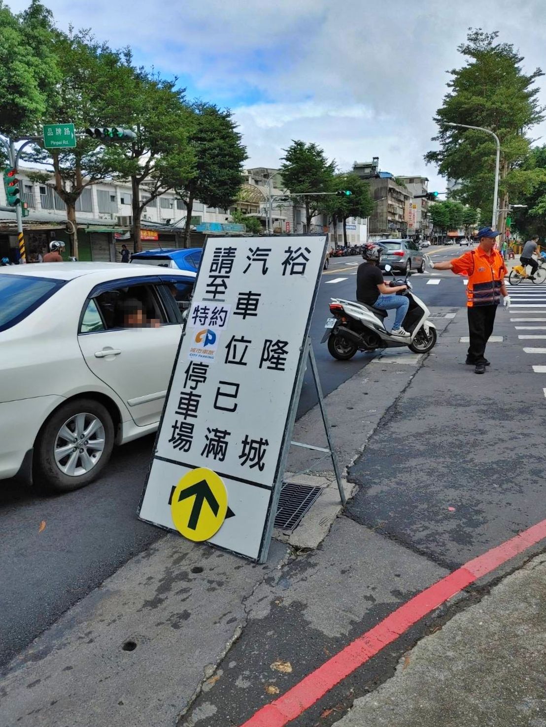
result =
[[[390,265],[385,266],[388,273]],[[357,351],[375,351],[379,348],[400,348],[408,346],[414,353],[428,353],[436,345],[438,338],[436,326],[428,318],[430,310],[424,302],[412,291],[408,276],[405,279],[393,280],[389,286],[407,286],[404,292],[395,295],[405,295],[410,300],[408,313],[402,323],[410,336],[394,336],[384,326],[387,310],[373,308],[373,305],[357,303],[343,298],[332,298],[330,312],[333,318],[328,318],[322,343],[328,341],[328,351],[333,358],[339,361],[349,361]]]

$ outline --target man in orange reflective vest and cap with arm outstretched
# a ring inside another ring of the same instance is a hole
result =
[[[491,228],[478,231],[478,247],[465,252],[455,260],[427,262],[435,270],[453,270],[456,275],[467,275],[467,313],[470,346],[466,364],[474,366],[475,374],[484,374],[489,361],[486,359],[486,345],[493,333],[496,307],[510,305],[505,285],[507,268],[502,254],[494,249],[495,239],[500,233]]]

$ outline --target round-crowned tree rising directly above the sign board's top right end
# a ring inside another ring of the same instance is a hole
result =
[[[328,162],[324,150],[314,143],[294,141],[288,149],[284,149],[285,162],[281,166],[283,184],[291,193],[330,192],[332,190],[333,173],[336,169],[334,161]],[[327,203],[323,196],[301,196],[294,200],[296,204],[305,206],[306,229],[309,231],[311,220],[326,209]]]

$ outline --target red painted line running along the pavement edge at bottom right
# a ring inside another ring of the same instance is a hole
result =
[[[546,520],[464,563],[464,566],[425,588],[379,624],[342,648],[274,702],[261,707],[241,727],[284,727],[435,608],[544,538]]]

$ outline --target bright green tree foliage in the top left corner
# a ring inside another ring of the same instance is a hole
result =
[[[12,15],[0,0],[0,38],[0,133],[35,134],[61,78],[50,10],[32,0]]]

